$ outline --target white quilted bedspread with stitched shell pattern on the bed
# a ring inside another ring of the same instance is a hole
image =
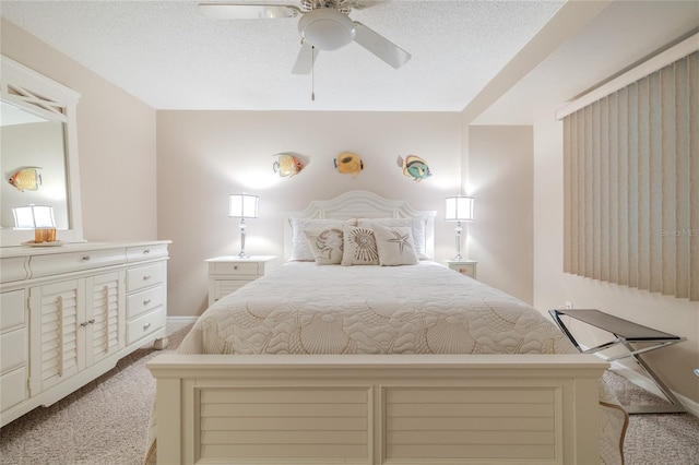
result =
[[[536,309],[438,263],[291,262],[209,308],[182,354],[576,354]],[[602,462],[626,414],[601,383]]]

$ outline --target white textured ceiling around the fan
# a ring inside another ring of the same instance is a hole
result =
[[[156,109],[460,111],[565,2],[375,3],[351,17],[412,59],[394,70],[350,44],[312,80],[291,72],[298,19],[213,21],[194,1],[2,0],[0,14]]]

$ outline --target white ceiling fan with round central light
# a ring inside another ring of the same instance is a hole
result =
[[[380,1],[360,0],[300,0],[300,5],[282,3],[200,3],[201,14],[213,20],[297,17],[301,48],[292,72],[309,74],[320,50],[336,50],[352,41],[399,69],[411,59],[403,50],[386,37],[352,21],[350,12],[374,7]]]

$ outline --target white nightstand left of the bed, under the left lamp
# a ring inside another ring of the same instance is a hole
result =
[[[251,255],[249,259],[224,255],[208,259],[209,305],[264,276],[274,259],[276,259],[275,255]]]

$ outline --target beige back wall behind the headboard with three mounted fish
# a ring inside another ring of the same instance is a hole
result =
[[[260,196],[260,217],[247,222],[248,253],[282,255],[284,212],[354,189],[437,210],[437,258],[455,252],[443,199],[461,190],[459,114],[158,111],[157,145],[158,228],[173,239],[171,315],[203,311],[204,260],[239,251],[238,220],[227,217],[229,193]],[[364,160],[356,178],[333,166],[344,151]],[[272,170],[280,152],[297,152],[310,163],[297,176],[280,178]],[[433,177],[405,177],[396,158],[408,154],[425,158]]]

